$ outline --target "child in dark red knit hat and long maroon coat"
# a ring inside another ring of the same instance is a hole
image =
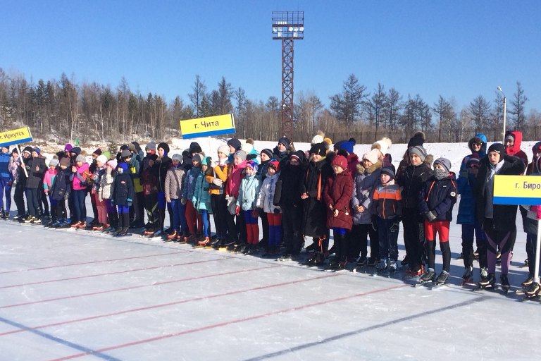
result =
[[[353,195],[353,178],[348,169],[347,159],[341,155],[332,159],[334,176],[329,178],[323,199],[327,204],[327,226],[332,228],[336,256],[330,262],[330,269],[345,269],[347,265],[346,233],[352,229],[353,216],[349,201]]]

